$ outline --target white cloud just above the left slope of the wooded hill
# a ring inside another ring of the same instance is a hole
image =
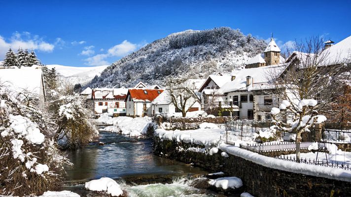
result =
[[[109,64],[106,59],[108,57],[123,57],[131,52],[134,52],[136,49],[145,46],[147,43],[142,41],[140,44],[134,44],[129,42],[128,40],[124,40],[122,43],[112,46],[107,50],[105,54],[98,54],[93,57],[87,58],[84,61],[86,65],[89,66],[101,66]],[[104,49],[100,49],[100,51],[104,51]]]

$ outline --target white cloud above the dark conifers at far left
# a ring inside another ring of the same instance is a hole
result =
[[[15,32],[9,39],[5,39],[4,37],[0,36],[0,58],[4,57],[5,53],[10,47],[13,50],[17,50],[18,48],[27,48],[42,52],[52,52],[55,48],[55,43],[48,43],[38,35],[32,35],[29,32]]]

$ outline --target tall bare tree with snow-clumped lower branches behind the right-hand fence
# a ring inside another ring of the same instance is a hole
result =
[[[270,73],[275,86],[271,94],[281,103],[271,113],[278,130],[296,134],[297,161],[300,161],[301,133],[325,121],[320,113],[326,113],[338,95],[338,88],[332,84],[344,69],[340,57],[324,50],[323,43],[317,36],[296,42],[286,69]]]

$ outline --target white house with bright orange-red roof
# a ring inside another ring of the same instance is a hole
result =
[[[127,116],[151,116],[151,102],[156,99],[162,92],[163,90],[161,89],[129,89],[125,99]]]

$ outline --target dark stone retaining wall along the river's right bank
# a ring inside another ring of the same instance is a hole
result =
[[[204,148],[176,141],[161,141],[158,137],[154,138],[153,148],[156,155],[188,164],[193,163],[214,172],[223,171],[229,176],[239,177],[243,180],[247,192],[255,197],[351,196],[350,182],[277,170],[233,155],[224,158],[221,157],[220,150],[214,155],[184,151],[189,147]]]

